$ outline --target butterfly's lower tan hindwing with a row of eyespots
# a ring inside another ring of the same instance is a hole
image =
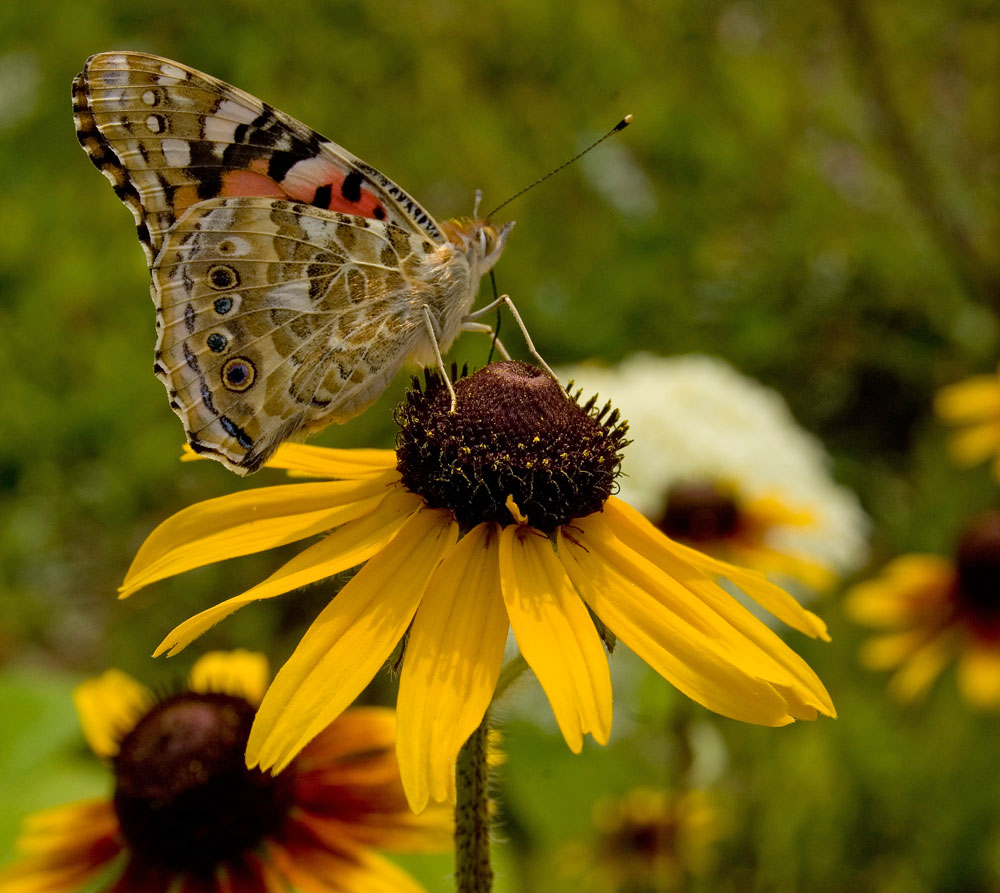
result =
[[[395,224],[260,198],[187,211],[152,271],[155,371],[196,450],[241,474],[356,415],[427,339],[434,246]]]

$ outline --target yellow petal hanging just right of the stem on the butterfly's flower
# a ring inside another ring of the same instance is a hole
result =
[[[552,705],[570,750],[611,734],[611,674],[594,622],[556,558],[530,528],[500,534],[500,586],[517,646]]]

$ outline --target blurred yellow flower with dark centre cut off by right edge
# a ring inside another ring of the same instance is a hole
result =
[[[865,643],[861,660],[895,669],[890,690],[923,695],[952,659],[965,700],[1000,707],[1000,512],[976,518],[951,558],[904,555],[846,598],[848,616],[886,632]]]

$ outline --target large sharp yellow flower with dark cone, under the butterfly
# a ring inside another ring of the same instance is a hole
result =
[[[808,665],[714,581],[724,575],[810,636],[816,616],[758,573],[667,539],[610,496],[625,428],[548,376],[498,363],[458,381],[457,411],[428,374],[397,410],[395,451],[286,446],[269,463],[335,481],[192,506],[143,545],[122,595],[193,567],[326,535],[249,591],[182,623],[176,653],[223,617],[364,564],[272,683],[250,765],[278,769],[362,691],[404,633],[397,754],[415,811],[454,798],[455,759],[489,706],[508,629],[567,744],[604,743],[611,680],[594,616],[684,694],[780,726],[833,715]],[[593,615],[593,616],[592,616]],[[604,633],[606,635],[606,633]]]

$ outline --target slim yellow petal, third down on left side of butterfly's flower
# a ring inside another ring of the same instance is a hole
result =
[[[224,617],[250,602],[284,595],[367,561],[396,535],[420,505],[421,499],[412,493],[390,491],[374,511],[328,534],[252,589],[206,608],[176,626],[157,646],[153,657],[159,657],[168,649],[172,657]]]

